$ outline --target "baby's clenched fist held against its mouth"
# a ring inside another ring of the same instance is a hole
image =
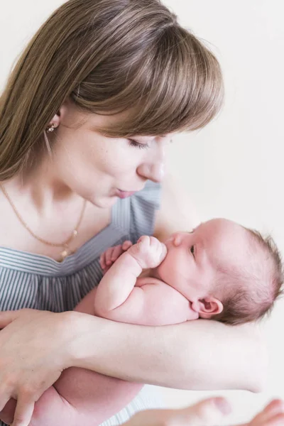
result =
[[[167,249],[154,236],[141,236],[128,253],[136,259],[142,269],[156,268],[163,262]]]

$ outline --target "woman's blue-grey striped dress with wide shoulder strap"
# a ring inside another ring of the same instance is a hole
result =
[[[160,185],[148,181],[142,191],[118,200],[112,208],[111,223],[62,263],[47,256],[0,247],[0,310],[73,310],[102,278],[100,254],[125,240],[134,243],[141,235],[153,234],[159,204]],[[144,386],[126,408],[102,425],[121,425],[138,410],[161,406],[163,402],[155,387]],[[0,422],[0,426],[4,425]]]

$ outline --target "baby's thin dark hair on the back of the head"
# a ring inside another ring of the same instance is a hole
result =
[[[237,325],[260,320],[271,313],[275,300],[283,294],[283,264],[271,236],[249,232],[249,267],[246,270],[219,271],[218,286],[227,288],[224,309],[214,320]]]

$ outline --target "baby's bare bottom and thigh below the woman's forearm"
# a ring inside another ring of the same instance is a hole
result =
[[[97,288],[88,293],[75,311],[94,313]],[[129,383],[83,368],[67,368],[35,404],[31,426],[96,426],[128,405],[141,390]]]

